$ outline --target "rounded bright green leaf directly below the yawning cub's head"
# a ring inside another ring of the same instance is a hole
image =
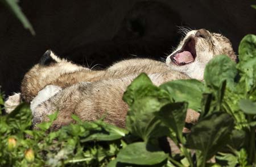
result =
[[[234,86],[236,64],[226,55],[218,55],[210,60],[204,70],[204,81],[207,86],[217,90],[226,80],[228,87]]]

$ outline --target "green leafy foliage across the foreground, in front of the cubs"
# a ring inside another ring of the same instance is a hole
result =
[[[0,166],[255,165],[255,35],[242,39],[239,54],[238,64],[224,55],[210,61],[204,82],[178,80],[156,87],[141,74],[123,96],[130,107],[126,130],[73,115],[76,124],[47,133],[57,112],[40,130],[31,130],[31,111],[22,104],[0,117]],[[199,111],[200,118],[184,134],[187,108]],[[180,153],[164,152],[162,136],[170,137]]]

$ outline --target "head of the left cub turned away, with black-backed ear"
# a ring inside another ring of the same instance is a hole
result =
[[[30,102],[38,94],[39,90],[42,90],[61,75],[80,70],[90,69],[73,64],[65,59],[60,59],[51,50],[48,50],[43,54],[39,63],[25,74],[21,84],[22,98],[26,102]]]

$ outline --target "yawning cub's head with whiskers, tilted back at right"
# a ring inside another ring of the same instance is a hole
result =
[[[227,55],[234,61],[237,59],[232,44],[225,36],[205,29],[192,30],[167,57],[166,63],[173,70],[203,80],[205,66],[215,55]]]

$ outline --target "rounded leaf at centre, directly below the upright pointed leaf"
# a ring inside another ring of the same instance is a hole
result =
[[[151,137],[160,137],[168,133],[168,128],[156,116],[156,112],[165,105],[157,98],[139,99],[129,108],[126,116],[126,128],[134,136],[147,141]]]

